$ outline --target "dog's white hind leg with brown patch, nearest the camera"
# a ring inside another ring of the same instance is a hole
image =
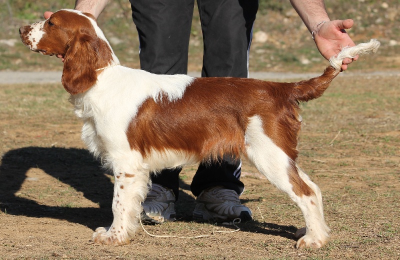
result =
[[[295,162],[260,129],[260,117],[250,118],[245,134],[248,158],[273,185],[286,192],[300,207],[306,232],[298,239],[296,246],[323,246],[328,241],[329,228],[323,218],[319,188],[303,171],[299,173]]]

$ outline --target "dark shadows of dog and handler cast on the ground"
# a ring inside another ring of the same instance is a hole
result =
[[[16,196],[30,168],[40,168],[46,174],[68,184],[98,207],[64,207],[39,204],[33,199]],[[0,165],[0,210],[8,214],[29,217],[65,219],[91,229],[112,222],[113,184],[98,161],[85,149],[60,147],[24,147],[6,152]],[[176,202],[178,221],[192,221],[194,198],[182,190],[190,186],[180,180]],[[242,231],[279,235],[294,239],[294,226],[251,220],[239,224]],[[232,227],[233,228],[233,227]]]

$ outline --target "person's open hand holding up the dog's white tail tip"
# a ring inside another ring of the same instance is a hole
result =
[[[316,47],[324,58],[329,59],[331,56],[336,55],[343,47],[355,46],[354,42],[345,31],[345,29],[351,28],[353,24],[354,22],[352,19],[333,20],[320,24],[317,30],[314,30]],[[357,58],[358,56],[352,59],[343,59],[341,69],[346,70],[347,64],[357,60]]]

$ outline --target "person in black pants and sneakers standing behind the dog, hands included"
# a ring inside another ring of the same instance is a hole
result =
[[[75,9],[95,18],[108,0],[76,0]],[[158,74],[187,73],[188,45],[194,0],[130,0],[132,19],[139,36],[141,69]],[[343,46],[354,46],[345,32],[353,20],[330,20],[323,0],[290,0],[311,33],[323,57],[337,54]],[[201,76],[248,76],[248,53],[258,0],[197,0],[203,35]],[[44,13],[48,18],[51,12]],[[60,57],[62,58],[62,57]],[[346,58],[342,70],[356,60]],[[162,222],[175,219],[181,168],[164,169],[152,176],[142,219]],[[229,155],[213,163],[201,163],[190,189],[196,196],[196,220],[251,219],[251,210],[242,205],[241,160]]]

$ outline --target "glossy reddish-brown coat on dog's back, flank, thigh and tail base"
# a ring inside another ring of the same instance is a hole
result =
[[[329,66],[321,76],[291,83],[195,78],[177,100],[144,101],[127,129],[130,146],[144,157],[151,150],[183,150],[197,160],[239,156],[246,153],[249,119],[257,115],[266,135],[295,160],[301,125],[298,101],[320,96],[338,73]]]

